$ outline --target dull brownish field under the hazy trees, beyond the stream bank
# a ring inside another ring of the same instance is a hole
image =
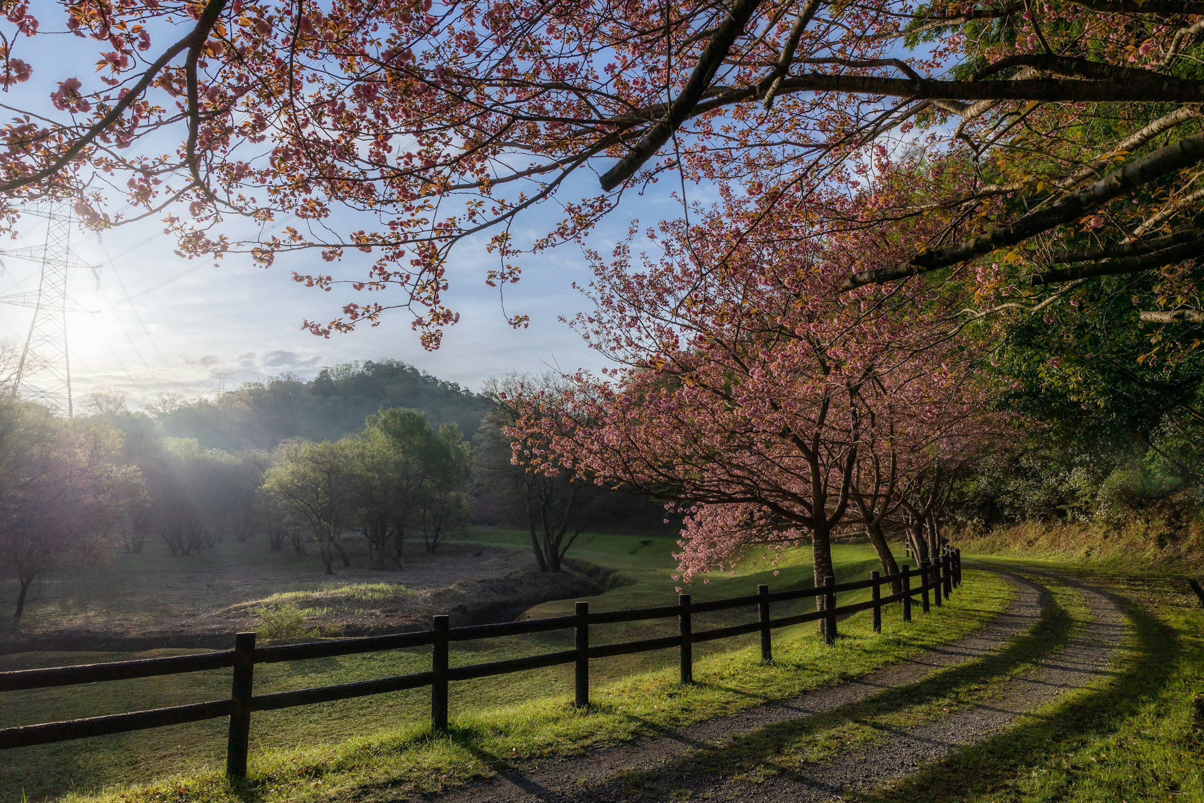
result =
[[[382,583],[402,590],[442,589],[536,568],[530,550],[450,541],[431,555],[420,541],[407,541],[405,568],[372,569],[361,536],[349,533],[343,544],[352,566],[344,568],[336,561],[334,575],[323,573],[312,548],[305,555],[291,548],[273,553],[262,537],[246,543],[225,539],[212,549],[181,556],[169,554],[157,542],[148,542],[138,554],[114,551],[98,566],[67,568],[37,580],[30,589],[19,633],[11,631],[8,616],[0,614],[0,646],[46,634],[69,638],[72,649],[75,643],[95,644],[102,637],[171,644],[171,637],[181,634],[225,636],[254,626],[254,610],[247,603],[281,592],[320,594]],[[16,579],[0,578],[0,612],[11,612],[16,598]],[[114,648],[120,649],[120,643]]]

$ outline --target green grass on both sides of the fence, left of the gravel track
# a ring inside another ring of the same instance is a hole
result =
[[[494,545],[526,548],[524,533],[484,531],[476,538]],[[583,537],[574,547],[577,560],[619,574],[612,575],[612,583],[616,584],[614,588],[590,598],[591,609],[673,601],[675,584],[669,573],[674,548],[668,538]],[[877,566],[872,550],[866,547],[839,547],[836,551],[840,579],[864,577]],[[691,592],[696,598],[706,600],[748,594],[762,581],[775,589],[809,584],[808,555],[802,551],[789,555],[778,572],[775,577],[767,563],[754,562],[734,577],[725,575],[707,584],[696,584]],[[259,779],[255,783],[260,787],[256,793],[295,797],[299,792],[294,789],[295,778],[290,773],[302,770],[309,778],[307,784],[321,780],[321,784],[313,785],[314,790],[337,787],[348,793],[360,790],[355,792],[360,795],[367,786],[406,786],[415,779],[438,786],[485,773],[494,762],[508,756],[563,752],[594,743],[618,742],[707,719],[761,699],[837,683],[851,674],[899,660],[926,644],[956,638],[1002,609],[1009,597],[1007,586],[990,579],[990,575],[976,578],[967,588],[974,588],[973,604],[969,604],[970,595],[957,595],[958,604],[946,606],[938,615],[923,618],[908,628],[889,624],[887,632],[881,637],[872,638],[864,633],[867,620],[857,616],[848,625],[852,638],[843,639],[834,650],[815,643],[813,626],[777,631],[779,646],[775,648],[778,663],[774,667],[757,665],[751,646],[756,636],[701,644],[696,648],[696,677],[701,683],[685,690],[673,683],[677,662],[673,650],[596,661],[591,666],[596,704],[589,715],[568,707],[572,667],[454,684],[452,716],[456,728],[450,738],[432,739],[429,734],[427,690],[256,714],[252,726],[252,761],[254,775]],[[857,598],[861,598],[860,594],[851,594],[842,597],[842,602]],[[536,607],[530,615],[555,615],[571,608],[572,601],[551,602]],[[775,615],[802,609],[801,606],[792,609],[783,607],[775,610]],[[697,618],[695,626],[722,626],[746,621],[749,615],[750,612],[706,614]],[[630,622],[600,627],[592,640],[626,640],[662,631],[674,632],[674,628],[673,620]],[[568,632],[557,632],[456,644],[453,663],[565,649],[571,638]],[[863,644],[860,643],[862,639]],[[182,650],[26,654],[0,659],[0,668],[179,653]],[[266,665],[256,667],[255,687],[256,692],[270,692],[401,674],[425,669],[429,661],[429,651],[411,650]],[[228,695],[228,672],[14,692],[6,695],[0,726],[218,699]],[[217,795],[212,790],[205,793],[200,790],[214,784],[224,789],[225,783],[218,780],[217,772],[224,761],[224,731],[225,722],[214,720],[8,751],[5,756],[7,762],[0,767],[0,799],[19,798],[22,793],[28,799],[41,799],[59,797],[72,790],[89,793],[163,777],[184,779],[178,783],[195,790],[185,797]],[[439,775],[447,778],[441,779]],[[167,786],[152,784],[148,789],[163,792]],[[230,793],[228,790],[220,795]],[[117,792],[106,795],[116,796]],[[147,791],[140,795],[154,797],[157,793]]]

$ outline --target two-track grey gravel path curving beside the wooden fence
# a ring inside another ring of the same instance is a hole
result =
[[[843,761],[809,767],[805,779],[791,773],[789,777],[775,775],[767,781],[746,784],[694,772],[689,760],[679,760],[692,750],[714,749],[715,743],[721,743],[724,739],[803,720],[814,714],[867,699],[887,689],[907,686],[938,668],[982,657],[1002,648],[1031,628],[1040,610],[1047,604],[1047,595],[1040,586],[1016,575],[1009,574],[1008,579],[1016,586],[1016,598],[1007,612],[979,628],[973,636],[927,651],[910,661],[839,686],[821,689],[792,699],[765,703],[654,739],[595,750],[573,758],[551,760],[525,769],[502,772],[489,783],[419,799],[439,803],[584,803],[632,799],[632,796],[667,799],[671,792],[681,795],[689,790],[692,795],[714,799],[821,801],[838,795],[843,789],[866,787],[870,778],[878,783],[908,774],[914,772],[917,763],[931,761],[999,730],[1007,721],[1019,715],[1021,709],[1044,702],[1041,695],[1052,696],[1063,687],[1081,685],[1085,681],[1084,675],[1096,667],[1093,660],[1106,662],[1106,656],[1098,656],[1100,651],[1098,642],[1104,636],[1120,638],[1119,632],[1096,633],[1102,626],[1097,622],[1091,633],[1079,639],[1081,644],[1072,644],[1061,650],[1056,656],[1056,663],[1043,665],[1032,679],[1023,681],[1026,685],[1013,690],[1013,684],[1020,681],[1007,684],[1009,689],[999,698],[998,712],[974,709],[979,718],[975,718],[974,712],[967,712],[967,722],[960,725],[952,722],[952,719],[958,718],[950,718],[931,726],[922,726],[914,733],[901,734],[899,740],[892,739],[890,749],[883,750],[881,756],[870,750]],[[1102,596],[1099,601],[1100,604],[1106,602]],[[1093,607],[1097,604],[1096,597],[1092,597],[1092,604]],[[1015,697],[1013,691],[1016,693]],[[913,742],[922,744],[922,749],[914,746]],[[903,746],[904,744],[907,746]],[[884,763],[879,766],[879,761]],[[642,791],[633,790],[628,785],[627,779],[632,773],[644,775],[644,780],[648,781]]]

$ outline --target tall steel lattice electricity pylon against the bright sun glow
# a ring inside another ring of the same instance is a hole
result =
[[[57,413],[71,417],[71,360],[67,356],[67,313],[87,312],[67,296],[69,268],[87,267],[100,284],[100,268],[87,265],[71,250],[71,208],[63,201],[45,201],[23,215],[46,219],[42,248],[13,248],[0,256],[41,262],[42,277],[36,293],[0,296],[0,303],[34,308],[25,348],[17,367],[13,392],[41,402]]]

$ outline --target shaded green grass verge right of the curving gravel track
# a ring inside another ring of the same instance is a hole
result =
[[[1080,574],[1117,594],[1133,633],[1110,672],[863,803],[1204,801],[1204,609],[1182,578]]]

